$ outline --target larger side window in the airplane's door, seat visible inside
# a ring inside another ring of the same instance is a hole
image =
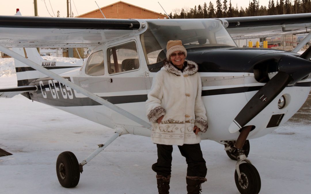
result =
[[[139,68],[138,52],[135,42],[108,48],[107,57],[109,74]]]

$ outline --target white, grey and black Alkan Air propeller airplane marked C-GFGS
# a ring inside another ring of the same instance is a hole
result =
[[[83,165],[119,136],[150,137],[147,93],[163,67],[167,41],[180,39],[202,79],[209,128],[201,139],[219,142],[237,160],[240,193],[259,193],[260,175],[247,159],[249,140],[274,131],[306,101],[311,48],[296,52],[311,33],[292,52],[239,48],[234,40],[300,33],[310,26],[311,14],[174,20],[0,16],[0,51],[15,59],[17,76],[17,87],[0,89],[0,97],[22,94],[114,129],[80,163],[70,151],[59,154],[58,181],[75,187]],[[88,47],[91,53],[79,66],[45,61],[36,47]]]

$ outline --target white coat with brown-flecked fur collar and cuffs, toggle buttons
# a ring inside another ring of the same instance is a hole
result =
[[[152,122],[151,140],[165,145],[196,144],[200,136],[193,132],[196,125],[207,130],[206,110],[201,98],[202,81],[198,66],[185,60],[183,72],[169,61],[156,74],[146,101],[147,117]],[[164,115],[160,124],[157,119]]]

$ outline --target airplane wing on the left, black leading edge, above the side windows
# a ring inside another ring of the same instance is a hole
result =
[[[132,19],[0,16],[0,45],[12,47],[90,47],[135,34]]]

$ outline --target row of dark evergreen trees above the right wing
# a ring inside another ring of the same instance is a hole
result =
[[[281,14],[310,13],[311,0],[269,0],[268,7],[259,6],[259,0],[250,0],[248,7],[232,6],[231,0],[216,1],[216,6],[210,2],[204,2],[203,6],[194,8],[176,8],[169,14],[171,19],[192,19],[192,18],[226,18],[245,16],[267,16]]]

